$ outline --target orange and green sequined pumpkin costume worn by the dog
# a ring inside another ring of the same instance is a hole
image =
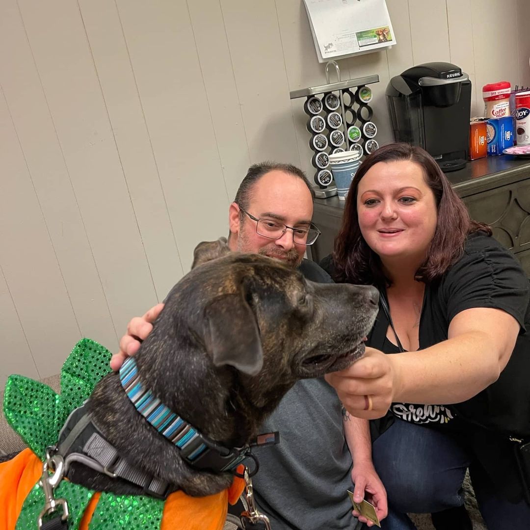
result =
[[[110,352],[98,343],[77,343],[61,370],[61,393],[22,376],[6,384],[4,412],[10,425],[29,446],[0,464],[0,530],[27,530],[37,525],[45,505],[38,482],[46,448],[57,443],[70,412],[80,407],[96,383],[110,371]],[[190,497],[175,491],[165,501],[153,497],[95,492],[80,484],[61,481],[56,499],[69,507],[68,529],[190,530],[223,528],[228,502],[235,504],[244,489],[235,477],[227,490],[207,497]]]

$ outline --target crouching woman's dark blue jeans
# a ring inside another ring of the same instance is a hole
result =
[[[375,469],[385,485],[389,515],[384,530],[416,528],[407,513],[429,514],[461,506],[462,482],[472,455],[443,432],[395,419],[372,445]],[[489,530],[530,528],[530,506],[498,497],[481,469],[471,466],[475,496]]]

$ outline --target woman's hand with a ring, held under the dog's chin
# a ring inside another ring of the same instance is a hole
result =
[[[382,418],[401,386],[400,372],[393,362],[395,357],[366,347],[364,356],[349,368],[327,374],[325,378],[350,414],[367,420]],[[367,403],[371,403],[370,410],[366,410]]]

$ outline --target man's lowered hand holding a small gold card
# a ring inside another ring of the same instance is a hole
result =
[[[372,461],[354,462],[351,480],[355,484],[355,502],[361,502],[363,499],[368,501],[375,508],[378,519],[384,519],[388,515],[386,490]],[[357,510],[354,510],[353,514],[359,518],[361,523],[366,523],[367,526],[374,525],[366,517],[360,516]]]

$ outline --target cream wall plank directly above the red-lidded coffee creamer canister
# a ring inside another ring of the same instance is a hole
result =
[[[520,83],[515,29],[516,0],[472,0],[476,99],[482,104],[482,86],[509,81]],[[496,36],[493,40],[491,36]]]

